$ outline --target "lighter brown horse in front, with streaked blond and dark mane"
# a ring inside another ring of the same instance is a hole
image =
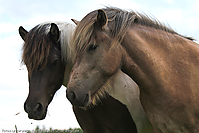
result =
[[[121,69],[138,84],[154,132],[199,132],[199,45],[193,39],[146,15],[105,8],[80,21],[72,42],[72,104],[89,106]]]

